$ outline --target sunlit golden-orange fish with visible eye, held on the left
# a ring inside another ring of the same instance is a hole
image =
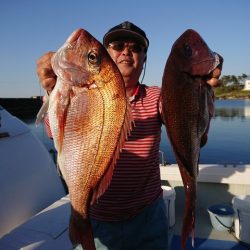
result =
[[[95,249],[89,207],[107,189],[132,116],[123,78],[106,49],[78,29],[52,58],[57,82],[48,116],[69,190],[69,236]]]

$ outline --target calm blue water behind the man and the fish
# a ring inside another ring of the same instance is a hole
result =
[[[216,100],[215,117],[211,120],[207,145],[201,149],[200,163],[250,164],[250,100]],[[34,120],[24,120],[48,150],[53,142],[48,139],[43,125],[34,126]],[[168,163],[175,158],[162,127],[161,151]]]

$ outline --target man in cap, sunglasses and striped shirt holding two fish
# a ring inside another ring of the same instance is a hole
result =
[[[90,208],[96,248],[165,250],[168,219],[159,169],[160,88],[139,83],[149,41],[139,27],[123,22],[104,35],[103,44],[123,76],[135,126],[110,186]],[[37,62],[40,82],[48,92],[56,82],[52,55],[49,52]]]

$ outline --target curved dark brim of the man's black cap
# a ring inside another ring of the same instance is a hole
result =
[[[145,48],[148,47],[148,41],[143,36],[139,35],[136,32],[124,29],[114,30],[106,34],[103,38],[103,44],[107,48],[109,43],[123,39],[132,39],[145,46]]]

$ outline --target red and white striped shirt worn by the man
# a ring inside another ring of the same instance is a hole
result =
[[[97,220],[133,217],[162,195],[160,88],[139,85],[130,102],[135,126],[116,163],[109,187],[90,207],[90,217]],[[45,125],[51,137],[48,120]]]

